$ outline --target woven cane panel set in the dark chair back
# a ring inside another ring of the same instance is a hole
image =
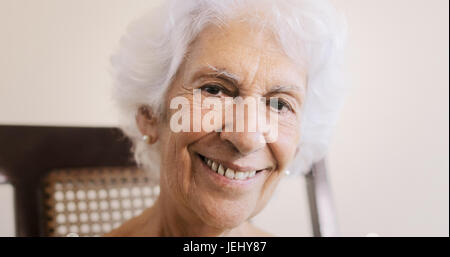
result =
[[[135,167],[53,170],[44,179],[46,236],[100,236],[139,215],[159,186]]]

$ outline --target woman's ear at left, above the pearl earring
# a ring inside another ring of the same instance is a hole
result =
[[[136,114],[136,124],[142,136],[148,136],[148,143],[154,144],[158,140],[158,117],[147,106],[140,106]]]

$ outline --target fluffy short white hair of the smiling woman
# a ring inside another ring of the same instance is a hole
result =
[[[328,1],[170,0],[130,24],[111,58],[119,127],[133,142],[137,164],[155,178],[159,143],[141,140],[138,108],[148,105],[161,113],[189,44],[207,25],[222,26],[233,19],[270,29],[284,53],[307,69],[299,152],[291,171],[307,172],[327,152],[345,93],[341,67],[346,36],[343,16]]]

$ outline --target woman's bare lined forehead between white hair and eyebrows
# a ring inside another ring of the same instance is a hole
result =
[[[187,76],[214,67],[242,85],[305,87],[306,72],[282,51],[268,30],[247,23],[205,28],[191,44]]]

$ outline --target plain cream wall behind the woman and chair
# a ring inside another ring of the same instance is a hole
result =
[[[109,56],[158,2],[0,0],[0,124],[115,126]],[[333,3],[352,87],[328,161],[341,233],[448,236],[449,1]],[[0,206],[0,235],[13,235],[9,187]],[[303,179],[285,179],[256,222],[311,235]]]

